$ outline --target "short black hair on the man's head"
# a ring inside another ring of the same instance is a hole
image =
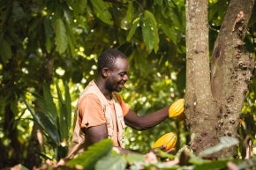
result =
[[[104,67],[111,69],[119,57],[127,59],[126,55],[116,48],[109,48],[103,51],[98,58],[98,72],[100,73]]]

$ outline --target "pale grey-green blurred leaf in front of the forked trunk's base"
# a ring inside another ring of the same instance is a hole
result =
[[[204,157],[204,156],[213,154],[215,152],[219,152],[224,148],[231,147],[235,144],[238,144],[237,138],[234,138],[234,137],[220,137],[220,143],[219,144],[216,144],[215,146],[210,147],[210,148],[200,152],[199,156]]]

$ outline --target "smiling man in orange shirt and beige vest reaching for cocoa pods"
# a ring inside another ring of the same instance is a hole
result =
[[[154,113],[138,116],[118,95],[128,80],[129,63],[117,49],[107,49],[98,58],[98,75],[81,92],[78,101],[76,124],[67,159],[87,150],[91,144],[111,138],[119,152],[122,147],[124,127],[144,130],[168,118],[169,107]]]

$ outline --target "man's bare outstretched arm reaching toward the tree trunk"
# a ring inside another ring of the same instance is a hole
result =
[[[149,129],[168,118],[168,110],[169,107],[164,107],[143,116],[138,116],[135,112],[129,110],[128,114],[124,116],[124,122],[133,129]]]

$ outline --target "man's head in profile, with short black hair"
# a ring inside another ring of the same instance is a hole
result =
[[[129,63],[124,53],[107,49],[98,58],[98,75],[109,92],[120,92],[128,79]]]

